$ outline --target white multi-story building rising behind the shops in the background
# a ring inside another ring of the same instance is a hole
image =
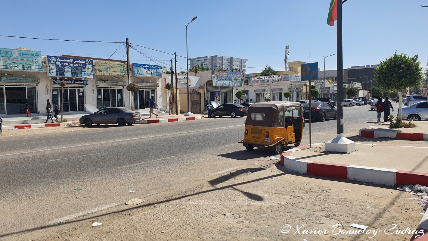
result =
[[[193,68],[194,66],[198,65],[198,67],[208,67],[211,69],[224,68],[226,70],[232,70],[238,68],[243,69],[244,72],[247,68],[247,60],[221,55],[196,57],[189,59],[189,62],[189,68]]]

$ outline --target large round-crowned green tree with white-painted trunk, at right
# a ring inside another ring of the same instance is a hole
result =
[[[421,85],[423,74],[420,65],[417,54],[414,57],[408,57],[403,53],[398,55],[397,51],[395,51],[392,57],[381,61],[380,65],[373,70],[375,72],[373,80],[380,87],[396,89],[401,92],[401,89]],[[401,121],[401,100],[398,108]]]

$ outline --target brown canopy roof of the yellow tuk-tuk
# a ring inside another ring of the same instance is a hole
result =
[[[248,108],[246,125],[283,127],[279,122],[279,113],[290,107],[301,107],[300,102],[291,101],[269,101],[251,104]],[[263,121],[253,120],[252,113],[264,113]]]

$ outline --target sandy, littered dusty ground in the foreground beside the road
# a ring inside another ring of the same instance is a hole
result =
[[[266,159],[267,160],[267,159]],[[411,234],[386,235],[397,227],[415,229],[423,209],[416,196],[388,187],[318,179],[279,170],[261,160],[253,168],[211,175],[193,184],[10,237],[7,240],[410,240]],[[273,163],[273,164],[272,164]],[[251,172],[251,173],[248,173]],[[342,189],[350,189],[346,191]],[[128,208],[128,210],[124,210]],[[233,213],[233,215],[224,215]],[[102,222],[92,227],[93,222]],[[376,235],[337,234],[352,223],[377,230]],[[291,229],[287,233],[281,233]],[[297,231],[297,226],[306,225]],[[303,234],[326,229],[326,234]]]

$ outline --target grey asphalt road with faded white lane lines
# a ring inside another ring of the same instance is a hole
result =
[[[345,134],[372,125],[376,113],[369,109],[345,107]],[[244,118],[68,128],[75,131],[52,128],[52,133],[0,141],[0,238],[273,155],[248,152],[237,143]],[[309,143],[308,130],[302,145]],[[336,120],[314,122],[312,131],[313,143],[331,140]]]

